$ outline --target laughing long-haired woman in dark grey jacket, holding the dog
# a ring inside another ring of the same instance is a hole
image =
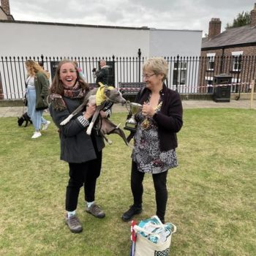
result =
[[[94,201],[102,165],[102,148],[105,145],[102,136],[95,129],[92,129],[91,135],[86,134],[96,105],[87,105],[84,112],[78,113],[64,126],[60,125],[61,121],[78,108],[88,92],[89,85],[80,78],[77,64],[69,60],[61,61],[50,86],[49,109],[50,116],[59,128],[61,160],[69,165],[65,221],[72,233],[83,230],[76,212],[80,187],[83,187],[85,193],[85,211],[97,218],[105,217],[102,208]]]

